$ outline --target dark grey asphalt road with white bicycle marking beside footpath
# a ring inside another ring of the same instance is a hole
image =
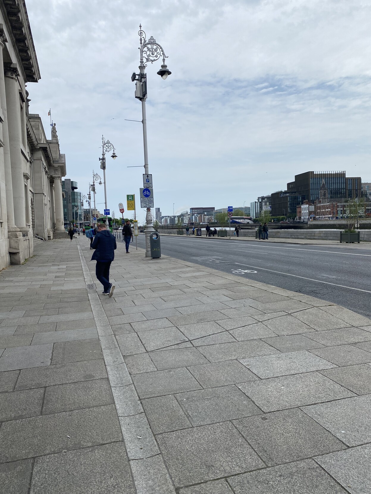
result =
[[[138,237],[138,247],[145,247],[143,234]],[[371,246],[278,244],[163,235],[161,252],[334,302],[371,318]]]

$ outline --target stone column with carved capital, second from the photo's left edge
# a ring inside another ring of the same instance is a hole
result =
[[[21,155],[21,115],[17,76],[15,64],[5,67],[5,95],[9,135],[11,179],[13,186],[14,221],[21,232],[28,233],[26,227],[26,206]]]

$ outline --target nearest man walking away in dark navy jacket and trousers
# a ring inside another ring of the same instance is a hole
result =
[[[95,276],[103,285],[103,295],[112,297],[115,286],[109,282],[109,268],[115,258],[116,239],[112,233],[106,229],[104,223],[96,225],[96,235],[92,248],[95,249],[92,261],[96,261]]]

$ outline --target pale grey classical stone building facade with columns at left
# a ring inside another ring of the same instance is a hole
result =
[[[37,237],[64,231],[65,157],[55,126],[47,139],[28,111],[26,84],[39,79],[25,3],[0,0],[0,269],[33,255]]]

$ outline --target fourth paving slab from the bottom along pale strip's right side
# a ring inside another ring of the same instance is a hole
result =
[[[201,389],[192,374],[185,368],[136,374],[133,375],[133,381],[140,398]]]

